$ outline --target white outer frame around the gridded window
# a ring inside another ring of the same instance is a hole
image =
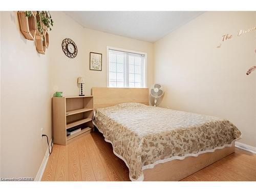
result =
[[[110,47],[110,46],[106,46],[106,87],[109,88],[109,50],[110,49],[116,50],[116,51],[130,52],[130,53],[140,54],[145,56],[145,65],[144,65],[144,71],[142,74],[142,76],[145,77],[145,82],[144,82],[144,87],[142,88],[147,88],[147,53],[134,51],[134,50],[121,49],[116,47]],[[126,87],[126,88],[129,88],[129,87]]]

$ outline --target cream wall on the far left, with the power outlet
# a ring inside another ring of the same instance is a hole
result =
[[[17,13],[1,12],[1,176],[35,177],[51,138],[49,52],[19,32]]]

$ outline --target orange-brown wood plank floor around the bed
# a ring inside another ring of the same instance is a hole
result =
[[[93,132],[67,146],[53,145],[42,181],[130,181],[129,169],[102,134]],[[235,153],[181,181],[256,181],[256,155]]]

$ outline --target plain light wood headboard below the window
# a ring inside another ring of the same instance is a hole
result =
[[[148,88],[92,88],[94,109],[124,102],[148,105]]]

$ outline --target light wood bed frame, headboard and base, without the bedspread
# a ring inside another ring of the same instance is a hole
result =
[[[148,105],[147,88],[92,88],[94,109],[123,102],[138,102]],[[154,168],[143,170],[144,181],[179,181],[198,170],[234,153],[234,142],[215,152],[159,163]]]

